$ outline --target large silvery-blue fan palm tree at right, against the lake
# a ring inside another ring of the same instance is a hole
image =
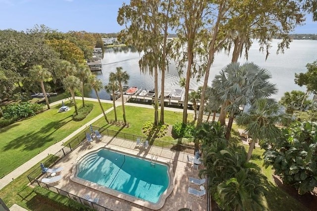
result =
[[[229,112],[226,138],[229,139],[233,119],[241,106],[251,104],[254,99],[268,98],[277,93],[275,84],[269,82],[271,74],[254,63],[233,62],[224,67],[212,80],[216,90],[214,100],[222,103],[219,121],[225,124],[225,113]]]

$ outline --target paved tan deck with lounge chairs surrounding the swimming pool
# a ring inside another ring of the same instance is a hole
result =
[[[80,185],[70,180],[70,176],[75,173],[72,170],[74,164],[77,163],[82,156],[102,147],[149,159],[151,159],[154,154],[158,156],[159,161],[172,163],[172,170],[174,172],[174,189],[166,198],[163,207],[159,209],[159,211],[177,211],[181,208],[191,208],[191,210],[199,211],[207,210],[206,196],[204,199],[198,200],[197,197],[191,196],[187,193],[188,187],[192,187],[197,190],[200,189],[200,186],[198,185],[189,184],[189,177],[199,177],[198,171],[193,170],[191,163],[187,163],[188,154],[151,145],[145,149],[143,147],[136,147],[136,142],[107,136],[103,136],[101,141],[94,141],[91,144],[84,141],[77,149],[62,158],[56,164],[56,166],[64,167],[61,172],[62,179],[57,183],[52,183],[51,185],[78,197],[83,198],[85,194],[89,194],[92,198],[99,198],[99,205],[113,211],[150,211],[151,209],[108,195],[90,187]],[[201,169],[202,165],[200,165],[199,168]]]

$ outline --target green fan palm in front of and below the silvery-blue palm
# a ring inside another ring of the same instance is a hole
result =
[[[239,126],[246,126],[248,135],[252,137],[250,148],[248,151],[247,161],[250,160],[252,151],[256,142],[259,140],[265,142],[275,140],[281,136],[281,130],[276,124],[287,124],[291,120],[291,116],[282,112],[281,107],[272,99],[256,100],[248,112],[243,112],[236,118]]]

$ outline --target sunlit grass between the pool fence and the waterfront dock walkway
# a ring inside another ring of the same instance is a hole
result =
[[[120,131],[123,133],[129,133],[136,136],[145,136],[143,134],[141,128],[143,124],[147,121],[154,121],[154,109],[150,108],[142,108],[142,107],[134,107],[134,106],[124,106],[126,113],[126,120],[129,127],[120,127],[115,125],[106,124],[104,118],[99,119],[93,125],[97,127],[104,127],[109,130]],[[122,107],[116,107],[117,118],[118,121],[123,122],[122,116]],[[114,111],[110,111],[107,113],[107,118],[109,120],[114,120]],[[188,114],[188,120],[191,121],[193,119],[193,114]],[[174,112],[174,111],[164,111],[164,122],[168,125],[173,125],[176,122],[182,121],[182,112]],[[173,141],[172,137],[163,137],[160,138],[163,141]]]

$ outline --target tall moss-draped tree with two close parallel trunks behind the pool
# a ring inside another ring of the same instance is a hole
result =
[[[164,95],[161,95],[159,119],[158,69],[161,71],[161,93],[164,93],[165,70],[171,45],[167,43],[168,29],[177,23],[174,19],[174,0],[131,0],[119,8],[117,22],[125,25],[120,32],[121,39],[133,45],[144,55],[139,61],[141,72],[154,74],[155,113],[154,125],[164,123]]]

